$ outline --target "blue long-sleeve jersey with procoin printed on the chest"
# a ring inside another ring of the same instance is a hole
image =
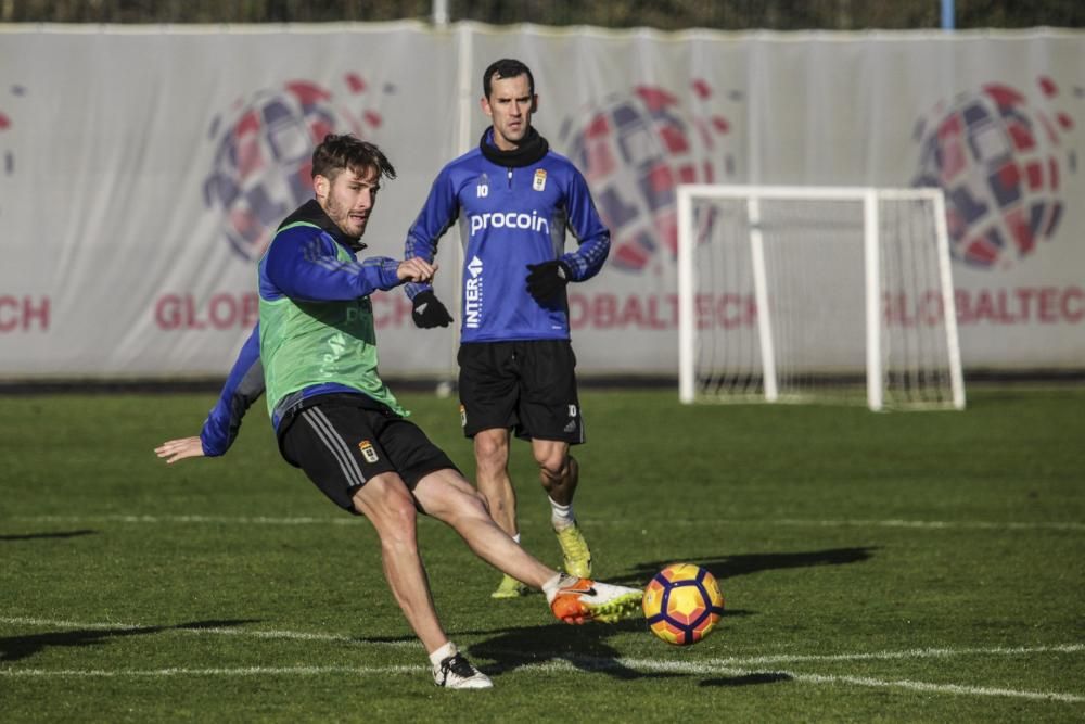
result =
[[[484,152],[483,144],[493,151]],[[565,295],[536,302],[527,292],[527,265],[561,259],[572,281],[590,279],[610,253],[610,231],[584,176],[567,158],[546,149],[526,165],[503,165],[496,155],[490,128],[478,148],[441,170],[407,233],[406,256],[432,262],[438,239],[459,221],[461,341],[569,339]],[[578,242],[570,252],[566,229]],[[426,289],[407,284],[407,294],[413,299]]]

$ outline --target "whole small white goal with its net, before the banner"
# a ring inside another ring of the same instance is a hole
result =
[[[962,409],[940,189],[678,188],[682,402]]]

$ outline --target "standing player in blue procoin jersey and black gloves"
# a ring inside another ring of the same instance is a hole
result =
[[[459,395],[463,432],[474,439],[478,490],[497,523],[519,542],[510,431],[531,441],[565,570],[588,577],[591,552],[573,513],[579,468],[570,446],[584,442],[584,422],[565,285],[599,272],[610,232],[584,177],[532,127],[537,107],[526,65],[506,59],[486,68],[482,110],[493,125],[478,148],[437,175],[408,232],[406,256],[432,262],[438,239],[460,219]],[[575,251],[564,251],[566,229],[578,242]],[[452,321],[427,280],[408,283],[407,294],[418,327]],[[507,575],[493,596],[523,592]]]

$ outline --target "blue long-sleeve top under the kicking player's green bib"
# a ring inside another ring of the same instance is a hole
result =
[[[315,201],[303,205],[282,223],[260,259],[260,296],[266,300],[289,296],[307,302],[336,302],[369,296],[376,290],[393,289],[401,283],[396,272],[399,263],[395,259],[373,256],[361,263],[343,263],[336,258],[336,245],[352,252],[363,247],[355,240],[343,237]],[[218,402],[204,421],[200,432],[204,455],[215,457],[230,448],[241,429],[242,418],[264,390],[257,325],[238,353]],[[272,427],[278,432],[289,412],[304,407],[314,397],[328,394],[360,395],[356,389],[336,383],[299,390],[284,401],[286,404],[276,409]]]

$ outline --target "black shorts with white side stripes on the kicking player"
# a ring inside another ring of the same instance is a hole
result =
[[[358,395],[334,395],[293,415],[280,434],[283,458],[301,468],[331,500],[357,513],[352,498],[366,481],[396,472],[407,487],[456,466],[413,422],[373,409]]]

